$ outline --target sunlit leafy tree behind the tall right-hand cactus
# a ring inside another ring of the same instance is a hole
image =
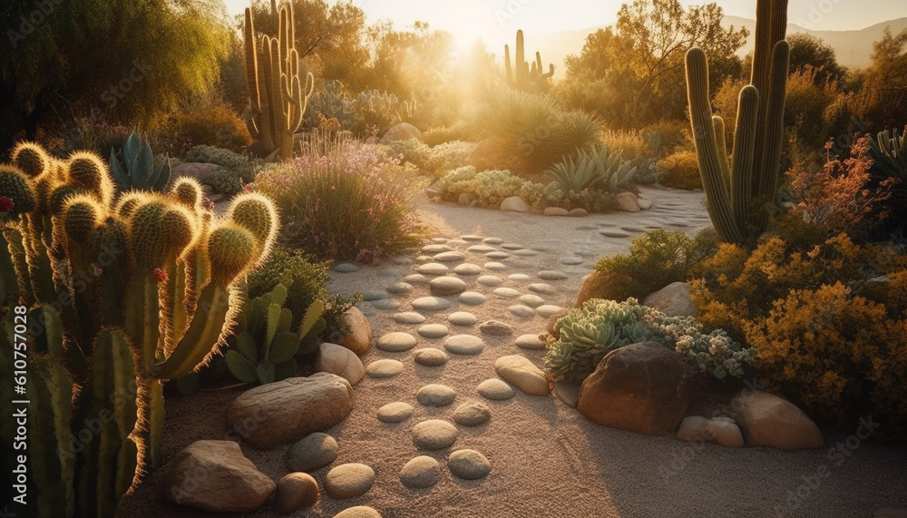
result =
[[[683,119],[686,97],[678,84],[683,83],[683,56],[689,47],[699,46],[710,56],[716,88],[727,75],[740,72],[734,53],[748,32],[725,29],[723,16],[714,3],[684,10],[678,0],[633,0],[620,7],[613,28],[590,34],[580,55],[567,58],[567,81],[605,80],[615,93],[610,98],[625,106],[626,115],[616,125]]]

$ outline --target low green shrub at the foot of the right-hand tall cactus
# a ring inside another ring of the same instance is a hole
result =
[[[672,282],[684,282],[702,260],[717,251],[717,240],[683,232],[649,230],[633,239],[628,254],[599,259],[595,269],[610,298],[644,298]]]

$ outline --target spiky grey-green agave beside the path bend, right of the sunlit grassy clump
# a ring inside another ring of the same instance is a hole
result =
[[[620,160],[620,151],[610,152],[606,146],[598,152],[581,151],[575,161],[571,157],[545,171],[565,192],[594,188],[614,192],[632,181],[634,174],[636,168],[629,161]]]

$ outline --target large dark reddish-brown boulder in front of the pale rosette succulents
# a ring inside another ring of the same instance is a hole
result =
[[[577,410],[599,425],[644,435],[672,432],[687,414],[690,386],[680,356],[652,342],[620,347],[580,385]]]

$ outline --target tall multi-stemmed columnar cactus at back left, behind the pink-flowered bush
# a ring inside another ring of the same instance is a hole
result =
[[[315,78],[308,73],[303,88],[292,6],[281,5],[278,11],[271,0],[271,15],[278,17],[277,37],[256,34],[252,11],[246,8],[243,28],[249,89],[246,127],[257,141],[253,146],[258,154],[267,156],[279,149],[280,158],[289,159],[293,156],[293,133],[302,123]]]

